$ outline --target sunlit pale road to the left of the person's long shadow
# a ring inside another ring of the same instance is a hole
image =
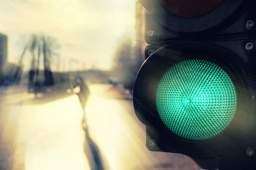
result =
[[[0,88],[0,170],[90,170],[82,114],[76,94]]]

